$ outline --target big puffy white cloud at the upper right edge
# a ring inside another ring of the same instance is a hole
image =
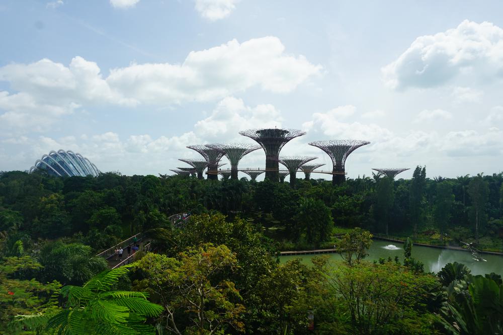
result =
[[[465,20],[446,32],[418,37],[382,73],[393,89],[435,87],[457,76],[501,77],[503,29]]]

